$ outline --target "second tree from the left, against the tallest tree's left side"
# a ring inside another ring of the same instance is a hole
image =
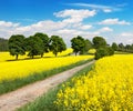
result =
[[[34,56],[41,56],[43,53],[43,41],[40,38],[30,36],[25,39],[27,50],[29,51],[28,56],[32,59]]]

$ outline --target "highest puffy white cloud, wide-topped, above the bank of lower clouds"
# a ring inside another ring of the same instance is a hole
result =
[[[63,22],[66,23],[82,22],[83,19],[94,17],[95,14],[96,14],[95,10],[90,11],[85,9],[81,10],[68,9],[54,13],[55,17],[65,18]]]

